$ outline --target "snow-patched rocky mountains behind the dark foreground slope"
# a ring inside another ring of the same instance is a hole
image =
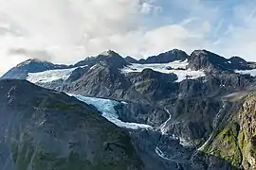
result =
[[[232,169],[237,164],[197,148],[211,144],[212,135],[222,129],[223,122],[228,125],[228,115],[236,114],[240,107],[237,98],[243,99],[239,92],[248,93],[256,87],[255,65],[207,50],[187,55],[174,49],[142,61],[107,51],[64,69],[35,73],[21,70],[27,73],[23,79],[47,89],[82,95],[99,104],[100,98],[117,101],[120,105],[114,107],[114,117],[107,117],[114,124],[118,121],[150,127],[126,129],[146,170],[155,170],[150,164],[158,165],[159,170],[217,170]],[[239,96],[224,101],[223,97],[232,93]]]

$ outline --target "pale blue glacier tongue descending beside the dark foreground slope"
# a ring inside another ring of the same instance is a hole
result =
[[[130,122],[122,122],[119,120],[119,115],[115,110],[115,107],[120,105],[122,102],[110,100],[110,99],[103,99],[103,98],[96,98],[96,97],[86,97],[80,94],[71,94],[68,93],[70,96],[76,97],[78,100],[93,105],[98,110],[101,111],[101,116],[106,118],[108,121],[112,122],[118,127],[129,128],[129,129],[139,129],[139,128],[148,128],[153,129],[153,127],[145,124],[137,124],[137,123],[130,123]]]

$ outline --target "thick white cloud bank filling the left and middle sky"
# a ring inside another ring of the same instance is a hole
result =
[[[161,11],[155,0],[0,2],[0,59],[9,66],[31,57],[44,59],[44,53],[36,50],[46,50],[46,59],[51,61],[69,63],[106,49],[142,56],[174,46],[182,48],[186,36],[191,37],[182,26],[160,26],[151,30],[141,25],[145,14]],[[13,53],[9,51],[17,49],[29,55],[10,56]],[[1,62],[0,70],[7,71],[9,66]]]

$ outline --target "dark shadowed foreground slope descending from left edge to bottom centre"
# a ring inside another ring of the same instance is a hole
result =
[[[64,93],[1,80],[0,120],[0,169],[143,169],[125,131]]]

